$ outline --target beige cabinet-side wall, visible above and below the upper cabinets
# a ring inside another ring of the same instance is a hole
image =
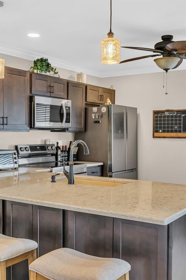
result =
[[[25,60],[10,55],[0,54],[8,67],[28,70],[33,65],[30,60]],[[57,68],[61,78],[76,81],[77,72]],[[87,75],[87,83],[101,86],[101,78]],[[17,144],[42,144],[45,139],[51,139],[52,143],[62,140],[63,145],[69,146],[69,141],[74,140],[74,133],[50,132],[46,130],[30,130],[30,132],[0,132],[0,149],[13,149]]]

